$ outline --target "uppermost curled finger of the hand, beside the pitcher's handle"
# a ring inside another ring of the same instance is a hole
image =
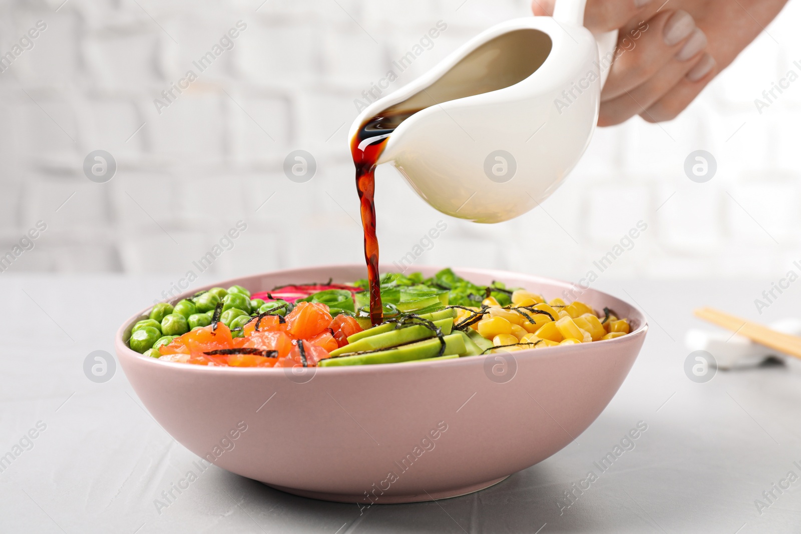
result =
[[[705,47],[706,35],[695,27],[690,14],[682,10],[660,13],[633,30],[621,31],[619,55],[603,87],[602,102],[642,85],[671,58],[686,61]]]

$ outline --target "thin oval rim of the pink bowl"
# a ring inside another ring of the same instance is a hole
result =
[[[428,271],[428,270],[440,271],[441,269],[445,268],[445,267],[438,267],[438,266],[433,266],[433,265],[421,265],[421,266],[418,266],[418,267],[422,267],[426,271]],[[302,271],[316,271],[316,270],[320,270],[320,269],[338,270],[338,269],[360,269],[360,268],[364,268],[364,264],[360,264],[360,263],[336,263],[336,264],[328,264],[328,265],[315,265],[315,266],[309,266],[309,267],[295,267],[295,268],[291,268],[291,269],[282,269],[280,271],[266,271],[264,273],[258,273],[256,275],[237,276],[235,278],[226,279],[226,280],[223,280],[223,281],[220,281],[220,282],[217,282],[217,283],[211,283],[211,284],[203,285],[203,286],[197,287],[197,288],[195,288],[195,289],[193,289],[191,291],[184,291],[180,295],[178,295],[176,297],[173,297],[171,299],[164,299],[164,300],[161,300],[159,302],[175,303],[175,302],[178,302],[181,299],[187,298],[187,295],[192,295],[192,294],[194,294],[194,293],[196,293],[198,291],[203,291],[204,289],[210,289],[211,287],[223,287],[223,286],[224,287],[228,287],[228,286],[233,285],[236,281],[244,279],[244,278],[262,277],[262,276],[266,276],[266,275],[293,275],[295,273],[302,273]],[[566,282],[565,280],[561,280],[561,279],[553,279],[553,278],[548,278],[548,277],[540,276],[540,275],[529,275],[529,274],[526,274],[526,273],[515,273],[513,271],[501,271],[501,270],[498,270],[498,269],[481,269],[481,268],[472,268],[472,267],[451,267],[451,268],[453,269],[453,271],[459,273],[460,275],[462,273],[465,273],[465,274],[476,274],[476,275],[493,275],[493,277],[497,277],[497,279],[499,279],[501,281],[503,281],[504,277],[508,277],[509,275],[514,275],[514,276],[518,276],[518,277],[525,277],[525,278],[529,279],[531,282],[535,282],[535,283],[548,283],[550,285],[557,285],[557,286],[562,286],[562,287],[566,287],[566,288],[574,287],[574,285],[575,285],[574,283]],[[385,268],[380,268],[380,271],[382,273],[384,273],[384,272],[392,272],[391,269],[385,269]],[[626,305],[631,307],[634,311],[638,312],[638,314],[642,318],[641,321],[640,321],[641,324],[634,331],[631,331],[629,334],[621,335],[620,337],[617,337],[617,338],[614,338],[614,339],[601,339],[599,341],[594,341],[592,343],[578,343],[578,344],[574,344],[574,345],[545,347],[545,348],[539,348],[539,349],[526,348],[526,349],[522,349],[520,351],[509,352],[508,354],[513,355],[514,359],[517,359],[518,357],[521,357],[521,356],[523,356],[525,358],[529,358],[529,357],[533,357],[533,355],[541,355],[541,356],[546,356],[546,355],[548,355],[548,356],[566,355],[566,354],[569,354],[569,353],[573,353],[575,351],[590,351],[590,350],[594,350],[594,348],[598,348],[599,347],[598,343],[603,343],[602,344],[603,347],[610,346],[610,344],[614,344],[614,343],[617,343],[617,344],[629,343],[630,339],[634,339],[636,337],[641,337],[642,335],[645,335],[646,332],[648,331],[648,326],[649,325],[648,325],[647,315],[646,315],[646,313],[644,311],[642,311],[642,308],[640,308],[638,305],[632,304],[632,303],[630,303],[630,302],[628,302],[626,300],[620,299],[620,298],[618,298],[618,297],[616,297],[614,295],[610,295],[609,293],[606,293],[605,291],[600,291],[598,289],[593,289],[592,287],[590,287],[590,288],[588,288],[587,290],[584,290],[584,291],[594,291],[595,293],[598,293],[598,294],[603,295],[605,297],[609,297],[610,299],[615,299],[615,300],[619,300],[619,301],[621,301],[623,303],[626,303]],[[279,375],[279,374],[280,375],[284,375],[285,372],[286,372],[285,370],[288,368],[288,367],[281,367],[281,368],[275,368],[275,367],[223,367],[223,366],[211,366],[211,367],[209,367],[209,366],[206,366],[206,365],[191,365],[191,364],[181,363],[181,362],[161,361],[160,359],[157,359],[157,358],[151,358],[151,357],[145,356],[143,354],[139,354],[139,352],[134,351],[131,347],[128,347],[127,343],[125,343],[125,341],[123,341],[123,335],[125,334],[125,331],[127,330],[127,328],[130,327],[132,324],[134,324],[135,321],[141,320],[141,317],[143,317],[143,315],[146,315],[145,311],[151,309],[151,307],[153,307],[153,305],[150,305],[150,306],[147,306],[147,307],[143,308],[143,310],[137,312],[135,315],[131,315],[131,317],[129,317],[128,319],[125,319],[123,324],[117,329],[117,332],[115,334],[115,349],[116,349],[116,352],[117,352],[118,356],[122,357],[124,355],[127,359],[133,358],[135,360],[138,360],[139,363],[144,363],[145,365],[167,366],[168,368],[172,368],[172,369],[175,369],[175,370],[183,369],[185,372],[205,372],[205,373],[208,373],[208,372],[211,372],[211,373],[215,373],[215,372],[228,372],[228,373],[230,373],[230,372],[233,372],[233,373],[259,373],[259,374],[264,374],[264,375]],[[562,349],[562,353],[554,351],[554,349],[560,349],[560,348]],[[545,351],[547,351],[547,352],[545,352]],[[486,355],[486,356],[489,356],[489,354]],[[429,360],[429,361],[411,360],[411,361],[408,361],[408,362],[381,363],[381,364],[378,364],[378,365],[342,365],[342,366],[332,366],[332,367],[310,367],[310,368],[314,369],[315,373],[324,372],[324,373],[327,373],[327,374],[341,374],[341,373],[346,373],[347,374],[347,373],[352,373],[352,372],[380,372],[381,369],[392,370],[392,369],[396,369],[398,365],[403,366],[403,368],[411,368],[411,369],[413,369],[413,368],[422,368],[422,367],[439,367],[439,366],[442,366],[442,365],[450,365],[450,366],[460,365],[460,364],[461,365],[469,365],[469,364],[471,364],[470,362],[480,363],[481,365],[483,365],[484,360],[485,360],[485,358],[453,358],[453,359],[434,360],[434,361],[432,361],[432,360]],[[324,369],[324,371],[320,371],[320,370],[323,370],[323,369]]]

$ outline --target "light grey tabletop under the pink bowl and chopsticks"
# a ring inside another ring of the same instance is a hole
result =
[[[773,486],[801,476],[799,362],[718,371],[708,383],[683,370],[684,333],[701,325],[693,307],[768,322],[801,315],[798,289],[758,316],[765,283],[599,281],[638,303],[651,327],[626,382],[576,443],[482,492],[360,514],[214,466],[157,510],[196,457],[149,416],[123,371],[93,383],[83,361],[113,353],[119,324],[167,283],[0,276],[0,455],[19,452],[0,472],[0,532],[801,532],[801,480],[782,493]],[[560,508],[563,492],[598,472],[594,462],[640,421],[647,430],[634,449]],[[29,444],[22,436],[37,424],[44,430]]]

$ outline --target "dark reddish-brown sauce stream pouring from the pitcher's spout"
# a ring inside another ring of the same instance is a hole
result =
[[[376,115],[364,122],[351,141],[351,154],[356,166],[356,190],[359,191],[361,203],[361,226],[364,229],[364,260],[367,262],[370,285],[370,323],[373,326],[380,324],[384,318],[376,237],[376,162],[392,131],[417,111],[419,110],[391,111]]]

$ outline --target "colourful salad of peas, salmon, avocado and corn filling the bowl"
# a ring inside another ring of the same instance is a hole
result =
[[[212,287],[155,304],[124,339],[142,355],[214,367],[332,367],[433,361],[596,343],[630,332],[626,318],[502,282],[480,286],[450,268],[380,276],[381,315],[366,279],[251,293]]]

